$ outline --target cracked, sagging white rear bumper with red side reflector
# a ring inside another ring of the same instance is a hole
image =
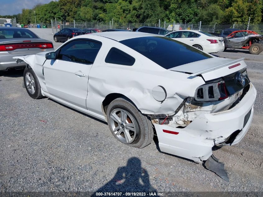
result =
[[[250,83],[247,94],[229,110],[205,112],[185,128],[154,124],[160,150],[196,162],[207,160],[214,146],[241,141],[252,122],[255,99],[256,89]]]

